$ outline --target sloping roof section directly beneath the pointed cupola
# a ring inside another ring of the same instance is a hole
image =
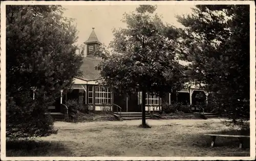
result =
[[[84,57],[80,70],[82,71],[81,79],[86,81],[94,81],[100,79],[100,71],[95,67],[100,63],[101,59],[96,57]]]

